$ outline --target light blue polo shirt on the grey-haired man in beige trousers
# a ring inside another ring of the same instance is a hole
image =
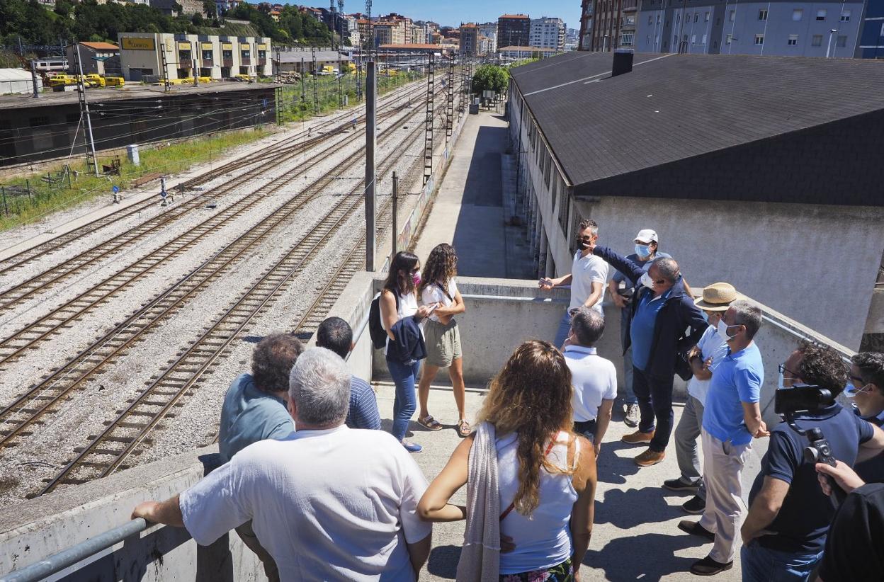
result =
[[[721,442],[748,444],[752,435],[743,419],[743,402],[758,402],[761,383],[765,380],[765,366],[761,351],[753,342],[736,353],[728,355],[713,369],[706,407],[703,411],[703,428]]]

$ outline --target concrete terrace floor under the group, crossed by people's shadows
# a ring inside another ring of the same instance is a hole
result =
[[[501,362],[502,365],[503,362]],[[445,374],[445,371],[442,371]],[[377,388],[377,404],[384,419],[384,429],[392,424],[392,384]],[[467,415],[475,418],[482,406],[484,390],[468,389]],[[432,432],[412,422],[408,438],[423,446],[414,455],[427,480],[433,480],[446,465],[448,457],[461,442],[455,432],[457,409],[451,389],[434,388],[430,393],[430,412],[444,426]],[[682,404],[675,406],[675,422],[682,415]],[[677,525],[682,519],[697,520],[679,507],[690,498],[661,488],[663,480],[678,476],[675,452],[670,444],[667,458],[659,465],[640,469],[633,461],[644,447],[628,445],[621,436],[632,432],[615,412],[598,457],[598,488],[596,491],[595,526],[590,549],[583,560],[583,580],[691,580],[697,579],[688,569],[694,561],[705,557],[711,543],[682,533]],[[766,444],[766,442],[765,442]],[[743,478],[748,494],[752,478],[758,473],[758,455],[752,454]],[[453,498],[453,503],[466,503],[466,488]],[[421,573],[421,580],[450,580],[457,571],[461,556],[464,522],[433,526],[433,548],[430,560]],[[734,568],[714,577],[720,582],[740,579],[739,550]]]

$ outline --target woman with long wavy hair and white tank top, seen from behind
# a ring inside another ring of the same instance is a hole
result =
[[[500,519],[501,580],[575,579],[589,547],[596,459],[591,442],[571,433],[571,414],[571,373],[549,342],[522,344],[492,380],[479,421],[496,435],[501,514],[484,519]],[[467,483],[474,441],[475,433],[461,442],[427,488],[422,518],[468,518],[448,500]]]

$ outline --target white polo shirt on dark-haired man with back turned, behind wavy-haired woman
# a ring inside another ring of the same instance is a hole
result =
[[[598,407],[602,400],[617,397],[617,369],[610,359],[596,354],[595,348],[582,345],[565,347],[565,363],[571,370],[571,407],[574,408],[574,421],[585,422],[598,417]]]

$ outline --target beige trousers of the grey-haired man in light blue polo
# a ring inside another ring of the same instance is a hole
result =
[[[709,557],[719,563],[734,559],[734,540],[743,518],[743,485],[740,475],[752,443],[721,442],[703,429],[703,480],[706,509],[700,525],[715,533]]]

